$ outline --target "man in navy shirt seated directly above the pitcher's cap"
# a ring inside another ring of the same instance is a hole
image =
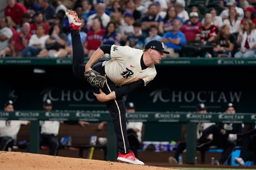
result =
[[[151,25],[159,26],[160,21],[162,21],[163,18],[157,13],[157,8],[155,4],[151,4],[148,7],[148,15],[143,17],[141,19],[141,29],[142,32],[147,33],[149,32],[149,27]]]

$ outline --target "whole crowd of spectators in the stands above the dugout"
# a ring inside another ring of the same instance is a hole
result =
[[[143,49],[151,40],[164,43],[170,52],[164,57],[255,57],[255,0],[6,2],[0,57],[72,57],[66,9],[82,20],[86,57],[103,44]],[[204,48],[208,55],[202,54]],[[195,52],[186,54],[191,50]]]

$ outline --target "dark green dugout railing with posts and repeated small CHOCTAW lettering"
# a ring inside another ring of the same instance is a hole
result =
[[[220,123],[256,123],[256,113],[207,113],[196,114],[195,112],[135,112],[127,114],[128,122],[157,122],[157,123],[187,123],[187,163],[193,164],[196,155],[196,123],[220,122]],[[108,122],[107,130],[107,156],[106,159],[116,161],[117,144],[112,118],[108,111],[0,111],[0,120],[29,120],[30,125],[30,153],[39,151],[39,120],[56,121],[88,121]],[[170,129],[171,132],[171,129]]]

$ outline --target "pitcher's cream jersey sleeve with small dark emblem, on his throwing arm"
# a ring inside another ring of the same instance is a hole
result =
[[[132,48],[129,46],[111,46],[110,57],[113,59],[128,57],[132,53]]]

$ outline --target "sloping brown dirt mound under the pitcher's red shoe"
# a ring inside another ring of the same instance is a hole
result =
[[[1,170],[172,170],[170,168],[147,166],[147,165],[132,165],[120,162],[90,160],[79,158],[66,158],[59,156],[49,156],[23,152],[4,152],[0,151],[0,169]],[[173,169],[174,170],[174,169]],[[176,169],[177,170],[177,169]]]

